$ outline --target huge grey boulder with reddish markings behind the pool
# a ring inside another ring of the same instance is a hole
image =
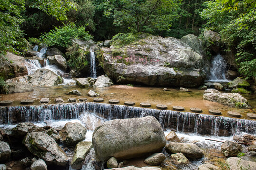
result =
[[[172,37],[149,35],[122,48],[101,48],[97,57],[119,83],[195,87],[206,77],[202,56]]]

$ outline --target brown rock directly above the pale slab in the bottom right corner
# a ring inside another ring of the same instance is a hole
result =
[[[225,141],[221,145],[221,152],[226,157],[237,156],[242,151],[243,151],[242,146],[240,144],[237,144],[236,142]]]

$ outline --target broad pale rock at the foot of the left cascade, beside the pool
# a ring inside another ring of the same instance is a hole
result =
[[[63,78],[48,69],[38,69],[27,76],[19,76],[6,80],[7,83],[22,82],[35,86],[53,86],[63,83]]]

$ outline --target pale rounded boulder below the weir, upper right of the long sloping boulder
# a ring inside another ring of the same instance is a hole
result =
[[[74,146],[85,139],[86,132],[80,123],[66,123],[59,135],[66,146]]]

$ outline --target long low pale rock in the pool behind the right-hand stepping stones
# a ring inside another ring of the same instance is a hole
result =
[[[229,106],[236,106],[236,104],[239,104],[242,108],[250,108],[248,101],[246,98],[242,97],[238,93],[220,93],[218,90],[214,89],[207,89],[204,91],[204,99],[213,101],[213,102],[219,102],[224,105]]]

